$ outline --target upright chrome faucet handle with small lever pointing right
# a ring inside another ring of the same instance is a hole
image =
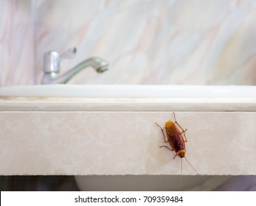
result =
[[[67,49],[63,54],[57,51],[47,51],[44,54],[44,73],[58,73],[60,71],[60,60],[71,59],[75,57],[77,49],[75,47]]]

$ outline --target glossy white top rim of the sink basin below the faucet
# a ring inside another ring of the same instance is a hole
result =
[[[213,85],[32,85],[0,88],[0,96],[66,98],[243,98],[254,86]]]

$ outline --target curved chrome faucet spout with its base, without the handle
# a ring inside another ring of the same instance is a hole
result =
[[[63,75],[58,75],[58,72],[55,71],[45,73],[42,79],[42,84],[66,84],[72,77],[87,67],[94,68],[97,73],[103,73],[108,70],[108,63],[100,57],[91,57],[71,68]]]

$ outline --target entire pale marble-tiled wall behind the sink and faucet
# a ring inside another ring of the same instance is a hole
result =
[[[93,56],[110,63],[72,84],[256,84],[256,1],[0,3],[1,85],[32,84],[33,71],[39,84],[44,52],[72,46],[77,55],[63,60],[62,72]]]

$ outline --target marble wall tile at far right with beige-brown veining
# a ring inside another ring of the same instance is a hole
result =
[[[166,82],[256,84],[256,1],[168,1]]]

